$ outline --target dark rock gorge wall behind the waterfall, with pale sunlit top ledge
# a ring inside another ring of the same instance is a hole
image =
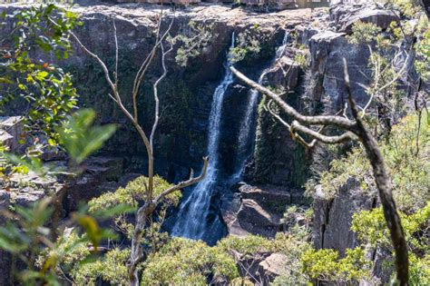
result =
[[[13,8],[10,5],[0,5],[0,10],[3,9],[10,11]],[[73,9],[82,14],[83,20],[83,26],[77,35],[110,67],[114,64],[112,21],[115,21],[120,45],[121,93],[125,105],[130,107],[133,74],[154,44],[160,6],[87,5]],[[173,16],[170,10],[164,13],[162,28],[170,23]],[[222,5],[204,5],[178,10],[174,16],[173,33],[189,33],[192,21],[199,25],[212,25],[212,38],[198,56],[191,58],[186,67],[176,64],[173,55],[167,59],[168,76],[161,84],[160,91],[161,123],[155,138],[155,172],[171,182],[186,178],[191,167],[196,173],[200,172],[201,157],[207,154],[212,95],[224,76],[223,64],[226,63],[233,32],[239,35],[245,29],[257,26],[256,31],[266,35],[260,43],[258,53],[250,54],[236,64],[241,72],[258,80],[263,71],[267,71],[261,83],[279,91],[290,91],[291,93],[284,95],[285,99],[300,111],[335,112],[344,106],[347,99],[343,58],[354,66],[350,69],[354,96],[358,103],[366,100],[364,86],[368,82],[362,73],[369,72],[369,54],[366,46],[347,43],[346,35],[351,32],[353,23],[361,20],[386,28],[391,21],[396,21],[395,15],[375,7],[347,5],[333,5],[330,11],[299,9],[270,14],[256,14]],[[5,28],[6,25],[2,25],[2,29]],[[277,49],[286,33],[291,39],[278,56]],[[304,68],[295,59],[298,54],[307,53],[308,63],[305,64],[307,68]],[[276,61],[273,61],[274,58]],[[54,58],[47,58],[46,61],[54,62]],[[141,122],[146,129],[152,123],[151,81],[161,74],[160,58],[156,62],[147,75],[149,81],[142,86],[139,102]],[[146,160],[142,143],[132,125],[109,98],[109,89],[100,67],[78,47],[67,61],[60,64],[75,76],[75,84],[81,94],[80,105],[94,108],[98,113],[99,123],[119,123],[118,132],[100,155],[122,160],[120,163],[113,160],[115,163],[112,164],[99,162],[96,163],[97,167],[130,175],[145,173]],[[224,94],[219,156],[220,170],[225,174],[236,171],[239,156],[243,155],[239,154],[238,136],[240,122],[247,111],[249,93],[248,87],[233,79]],[[270,237],[283,228],[282,215],[288,204],[305,203],[303,183],[309,178],[311,167],[318,167],[318,156],[324,156],[324,150],[319,150],[320,153],[308,153],[289,139],[285,127],[277,123],[264,108],[264,99],[259,98],[258,103],[255,123],[251,123],[255,136],[249,143],[249,160],[241,178],[245,182],[232,184],[228,192],[215,192],[210,198],[210,204],[213,206],[211,215],[220,216],[227,226],[226,233],[258,233]],[[16,109],[9,113],[18,115],[22,111]],[[121,168],[116,168],[120,165]],[[119,183],[125,182],[118,175],[106,177],[110,179],[105,181],[113,183],[103,190],[80,185],[76,190],[88,188],[86,196],[77,191],[70,192],[73,197],[69,194],[69,201],[88,200],[100,192],[112,191]],[[95,181],[93,184],[100,185]],[[351,211],[369,208],[374,204],[373,199],[359,195],[357,200],[346,204],[351,196],[355,197],[357,185],[351,183],[345,188],[345,192],[336,200],[321,197],[314,205],[314,242],[318,248],[333,247],[342,251],[353,246],[356,242],[349,232]],[[186,197],[190,192],[191,190],[187,190]],[[334,220],[335,217],[340,219]],[[166,226],[170,228],[173,223],[168,221]],[[344,235],[347,239],[339,242],[339,238]]]

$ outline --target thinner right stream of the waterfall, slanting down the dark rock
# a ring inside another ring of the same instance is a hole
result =
[[[269,67],[264,69],[263,72],[259,75],[259,80],[258,80],[259,84],[263,84],[263,80],[266,74],[269,73],[269,70],[272,64],[276,63],[284,55],[285,49],[287,48],[288,40],[289,40],[289,33],[288,31],[285,31],[282,44],[278,47],[275,57],[270,62]],[[247,151],[249,149],[248,144],[249,144],[249,140],[252,139],[250,138],[251,127],[252,127],[252,122],[254,121],[253,115],[257,107],[256,105],[258,103],[258,99],[259,99],[259,92],[256,90],[251,90],[249,92],[249,101],[247,105],[247,110],[246,110],[245,116],[242,119],[242,122],[240,123],[238,148],[239,148],[239,154],[241,155],[239,155],[239,163],[238,163],[237,171],[231,176],[230,180],[232,182],[238,181],[241,178],[243,169],[245,167],[245,163],[248,160],[248,156],[249,156],[249,154],[247,154]]]

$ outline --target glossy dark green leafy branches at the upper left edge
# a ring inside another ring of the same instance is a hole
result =
[[[32,5],[14,15],[4,11],[6,17],[12,27],[1,43],[0,107],[27,102],[27,132],[47,136],[45,140],[54,145],[58,139],[54,128],[76,108],[78,95],[72,75],[49,63],[44,53],[68,58],[72,47],[67,32],[80,23],[76,14],[54,4]],[[15,100],[17,96],[21,101]]]

